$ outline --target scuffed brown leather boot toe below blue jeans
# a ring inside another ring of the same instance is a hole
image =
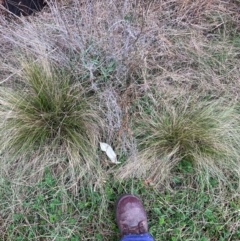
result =
[[[116,203],[116,221],[121,235],[148,232],[147,215],[141,200],[132,195],[122,195]]]

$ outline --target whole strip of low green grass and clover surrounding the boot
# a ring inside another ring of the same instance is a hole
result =
[[[8,220],[1,240],[117,240],[114,203],[124,192],[143,200],[155,240],[238,240],[239,199],[216,199],[214,186],[201,192],[187,187],[186,177],[172,192],[156,191],[138,180],[107,182],[104,212],[100,193],[88,186],[73,195],[47,169],[36,185],[19,186],[18,193],[9,180],[0,186],[1,217]]]

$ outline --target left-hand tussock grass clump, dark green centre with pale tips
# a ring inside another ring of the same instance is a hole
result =
[[[17,89],[0,88],[2,151],[18,155],[47,146],[92,162],[102,126],[94,97],[49,63],[23,64],[20,79]]]

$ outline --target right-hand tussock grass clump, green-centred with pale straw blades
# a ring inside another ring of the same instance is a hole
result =
[[[139,103],[133,128],[138,154],[120,170],[121,177],[136,175],[162,182],[181,160],[222,181],[237,173],[238,114],[224,100],[155,97],[149,104]]]

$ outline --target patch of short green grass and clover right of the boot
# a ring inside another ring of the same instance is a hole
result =
[[[158,225],[150,231],[157,240],[238,240],[239,232],[231,227],[238,222],[237,201],[230,203],[233,216],[226,217],[226,207],[212,202],[208,193],[186,189],[165,194],[153,204],[152,220]]]

